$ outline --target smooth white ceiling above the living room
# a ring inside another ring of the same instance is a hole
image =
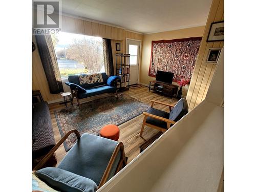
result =
[[[206,24],[212,0],[62,0],[62,12],[140,33]]]

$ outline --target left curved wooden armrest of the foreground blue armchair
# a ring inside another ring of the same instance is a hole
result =
[[[69,137],[70,134],[75,133],[77,139],[80,139],[80,134],[77,130],[70,130],[60,141],[52,148],[52,150],[35,166],[33,170],[40,169],[54,154],[54,152],[59,148],[59,146]]]

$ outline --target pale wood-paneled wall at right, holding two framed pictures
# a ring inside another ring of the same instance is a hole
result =
[[[210,86],[212,76],[214,75],[216,64],[206,64],[206,57],[209,48],[222,48],[224,41],[206,42],[210,25],[213,22],[224,20],[224,0],[213,0],[208,15],[207,23],[204,29],[201,47],[195,66],[188,93],[187,102],[189,110],[195,108],[205,99],[206,93]]]

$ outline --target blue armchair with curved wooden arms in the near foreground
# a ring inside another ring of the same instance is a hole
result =
[[[75,133],[78,141],[57,167],[41,168],[65,141]],[[92,134],[68,132],[34,168],[35,175],[60,191],[93,192],[110,180],[126,165],[122,142]],[[39,170],[38,170],[39,169]]]

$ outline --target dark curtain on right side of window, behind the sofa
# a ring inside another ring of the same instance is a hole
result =
[[[114,63],[113,63],[113,55],[111,48],[111,39],[103,38],[103,55],[104,55],[104,65],[105,72],[107,75],[114,75]]]

